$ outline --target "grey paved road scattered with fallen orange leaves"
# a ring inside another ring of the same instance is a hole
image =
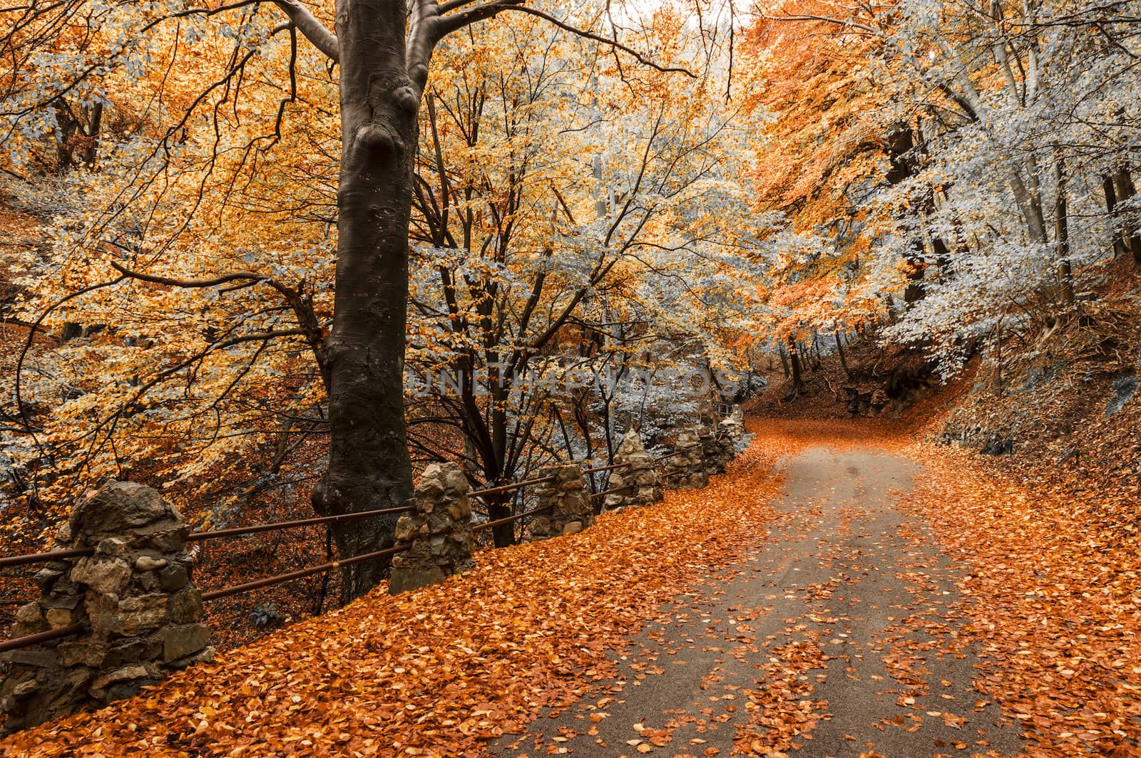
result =
[[[916,464],[808,448],[782,464],[754,559],[644,630],[609,693],[550,711],[501,756],[1014,755],[1015,725],[972,687],[962,567],[905,519]],[[731,474],[730,474],[731,475]],[[947,504],[953,507],[953,504]],[[799,745],[799,748],[798,748]]]

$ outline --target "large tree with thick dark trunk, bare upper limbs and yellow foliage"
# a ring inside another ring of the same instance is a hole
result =
[[[432,56],[450,34],[509,13],[589,40],[620,79],[644,68],[693,75],[624,44],[639,16],[607,9],[283,1],[6,13],[10,173],[29,176],[39,146],[71,129],[60,103],[89,108],[76,127],[84,133],[96,131],[95,105],[104,124],[98,162],[84,157],[64,180],[87,193],[82,206],[74,193],[60,196],[67,213],[56,246],[72,252],[38,262],[40,296],[29,313],[52,324],[86,310],[108,324],[64,345],[59,367],[114,361],[124,377],[96,386],[75,376],[86,386],[67,398],[50,432],[37,431],[48,409],[29,406],[27,394],[66,394],[66,378],[50,373],[17,384],[14,417],[31,434],[16,448],[43,462],[44,445],[56,453],[83,446],[58,462],[64,472],[97,459],[122,472],[138,464],[115,440],[127,429],[154,429],[132,440],[140,453],[163,449],[147,458],[151,470],[193,479],[221,459],[178,460],[193,450],[220,448],[236,460],[250,434],[277,435],[280,449],[327,434],[326,471],[314,488],[318,512],[402,505],[411,495],[403,409],[408,222]],[[133,299],[153,310],[131,308]],[[32,310],[52,300],[47,311]],[[155,334],[148,313],[169,313],[171,332]],[[118,348],[124,342],[130,350]],[[299,349],[311,368],[299,370]],[[68,418],[79,425],[68,429]],[[390,544],[393,521],[338,527],[339,551]],[[355,567],[346,592],[364,592],[382,570]]]

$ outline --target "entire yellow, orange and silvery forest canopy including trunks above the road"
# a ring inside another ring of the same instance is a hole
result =
[[[46,234],[3,261],[6,316],[34,328],[3,377],[0,502],[25,531],[107,478],[202,527],[267,491],[361,511],[403,503],[431,460],[508,481],[605,462],[632,424],[664,439],[709,413],[652,381],[666,369],[739,400],[762,357],[874,331],[954,376],[1004,331],[1051,328],[1084,276],[1141,264],[1138,18],[7,10],[2,190]]]

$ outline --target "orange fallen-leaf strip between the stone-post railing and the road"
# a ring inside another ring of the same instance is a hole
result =
[[[771,454],[704,490],[584,532],[478,555],[443,585],[369,596],[167,679],[96,715],[0,743],[5,756],[474,756],[577,699],[606,650],[763,538]]]

